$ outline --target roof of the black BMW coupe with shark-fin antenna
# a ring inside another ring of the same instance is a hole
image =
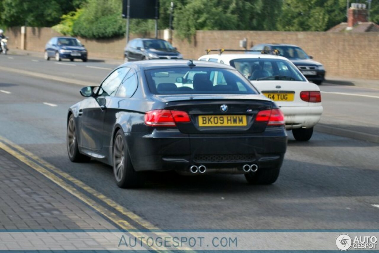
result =
[[[122,64],[121,66],[124,67],[134,67],[136,69],[140,70],[149,70],[149,69],[155,69],[155,68],[174,68],[174,67],[189,67],[188,66],[189,60],[148,60],[148,61],[136,61],[136,62],[126,62]],[[206,62],[206,61],[193,61],[193,64],[196,65],[196,67],[208,67],[208,68],[226,68],[230,70],[235,70],[235,68],[226,65],[221,64],[217,62]]]

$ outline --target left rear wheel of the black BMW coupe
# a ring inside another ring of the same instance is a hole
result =
[[[125,135],[118,130],[113,141],[113,175],[120,188],[139,188],[144,184],[144,174],[136,172],[128,152]]]

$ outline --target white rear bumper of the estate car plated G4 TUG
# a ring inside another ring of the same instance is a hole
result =
[[[283,106],[285,128],[310,128],[315,126],[323,114],[322,106]]]

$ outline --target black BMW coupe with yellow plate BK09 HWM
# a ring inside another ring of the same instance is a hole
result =
[[[122,188],[141,186],[146,171],[244,174],[252,184],[279,175],[283,114],[230,66],[129,62],[80,93],[67,115],[69,158],[113,166]]]

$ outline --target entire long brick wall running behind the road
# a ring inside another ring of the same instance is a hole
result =
[[[26,50],[43,51],[45,43],[59,36],[51,28],[26,30]],[[160,37],[163,32],[160,31]],[[7,31],[9,48],[20,47],[20,28]],[[150,36],[153,36],[151,34]],[[131,36],[131,39],[136,37]],[[149,35],[147,36],[149,37]],[[258,43],[290,43],[303,48],[316,61],[325,65],[327,76],[346,78],[379,79],[379,33],[324,33],[324,32],[277,32],[277,31],[197,31],[189,43],[175,38],[174,47],[185,58],[198,59],[207,48],[240,49],[239,41],[247,38],[248,47]],[[79,38],[89,51],[89,57],[121,59],[125,39],[92,40]]]

